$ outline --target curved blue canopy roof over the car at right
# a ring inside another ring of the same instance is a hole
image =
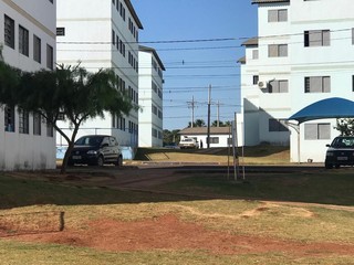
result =
[[[288,119],[295,119],[301,124],[313,119],[353,117],[354,102],[341,97],[332,97],[315,102]]]

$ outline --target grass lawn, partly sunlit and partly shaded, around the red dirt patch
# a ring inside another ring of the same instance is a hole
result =
[[[102,218],[137,221],[175,214],[185,222],[198,223],[210,231],[235,235],[354,245],[354,179],[351,170],[250,174],[247,176],[247,181],[236,184],[225,176],[195,174],[177,182],[154,187],[170,192],[163,194],[17,179],[0,174],[0,223],[1,218],[43,211],[65,212],[65,225],[71,229],[84,229],[85,222]],[[332,209],[327,204],[346,208]],[[323,256],[316,253],[296,256],[282,252],[217,255],[194,250],[104,252],[88,247],[0,239],[0,264],[344,265],[354,264],[354,257],[336,254]]]

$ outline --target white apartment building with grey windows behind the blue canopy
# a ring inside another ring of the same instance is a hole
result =
[[[284,120],[321,99],[354,99],[353,1],[252,3],[258,4],[259,32],[243,43],[241,60],[244,145],[290,145],[291,161],[322,162],[325,145],[339,135],[336,120],[300,124],[299,134]]]

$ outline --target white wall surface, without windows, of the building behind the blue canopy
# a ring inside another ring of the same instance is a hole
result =
[[[339,135],[334,119],[309,123],[331,124],[330,139],[305,140],[304,124],[300,126],[300,152],[298,132],[268,131],[268,118],[288,118],[303,107],[329,97],[354,99],[352,75],[354,45],[352,28],[354,15],[351,0],[291,1],[290,3],[259,4],[259,45],[246,50],[247,64],[241,66],[241,97],[244,105],[246,145],[261,141],[289,144],[291,161],[322,162],[326,144]],[[268,22],[268,10],[288,9],[287,22]],[[304,31],[330,30],[330,46],[304,46]],[[269,57],[268,45],[288,43],[287,57]],[[259,60],[252,60],[252,50],[259,50]],[[289,80],[289,93],[268,94],[252,85],[252,75],[260,81]],[[304,77],[331,76],[330,93],[305,93]],[[247,103],[247,104],[246,104]],[[258,110],[257,110],[258,109]],[[259,118],[259,119],[258,119]],[[293,121],[293,120],[292,120]],[[259,131],[257,136],[254,130]]]

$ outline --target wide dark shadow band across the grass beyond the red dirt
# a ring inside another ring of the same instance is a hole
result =
[[[183,170],[181,170],[183,169]],[[195,201],[207,199],[247,199],[354,205],[352,169],[325,171],[314,169],[284,172],[281,170],[247,173],[246,181],[235,183],[226,168],[198,171],[179,168],[184,174],[175,181],[152,186],[150,191],[115,190],[87,187],[77,182],[58,182],[0,174],[0,209],[56,204],[119,204],[140,202]],[[144,170],[139,172],[144,174]],[[102,177],[95,177],[102,178]],[[158,191],[158,192],[156,192]]]

